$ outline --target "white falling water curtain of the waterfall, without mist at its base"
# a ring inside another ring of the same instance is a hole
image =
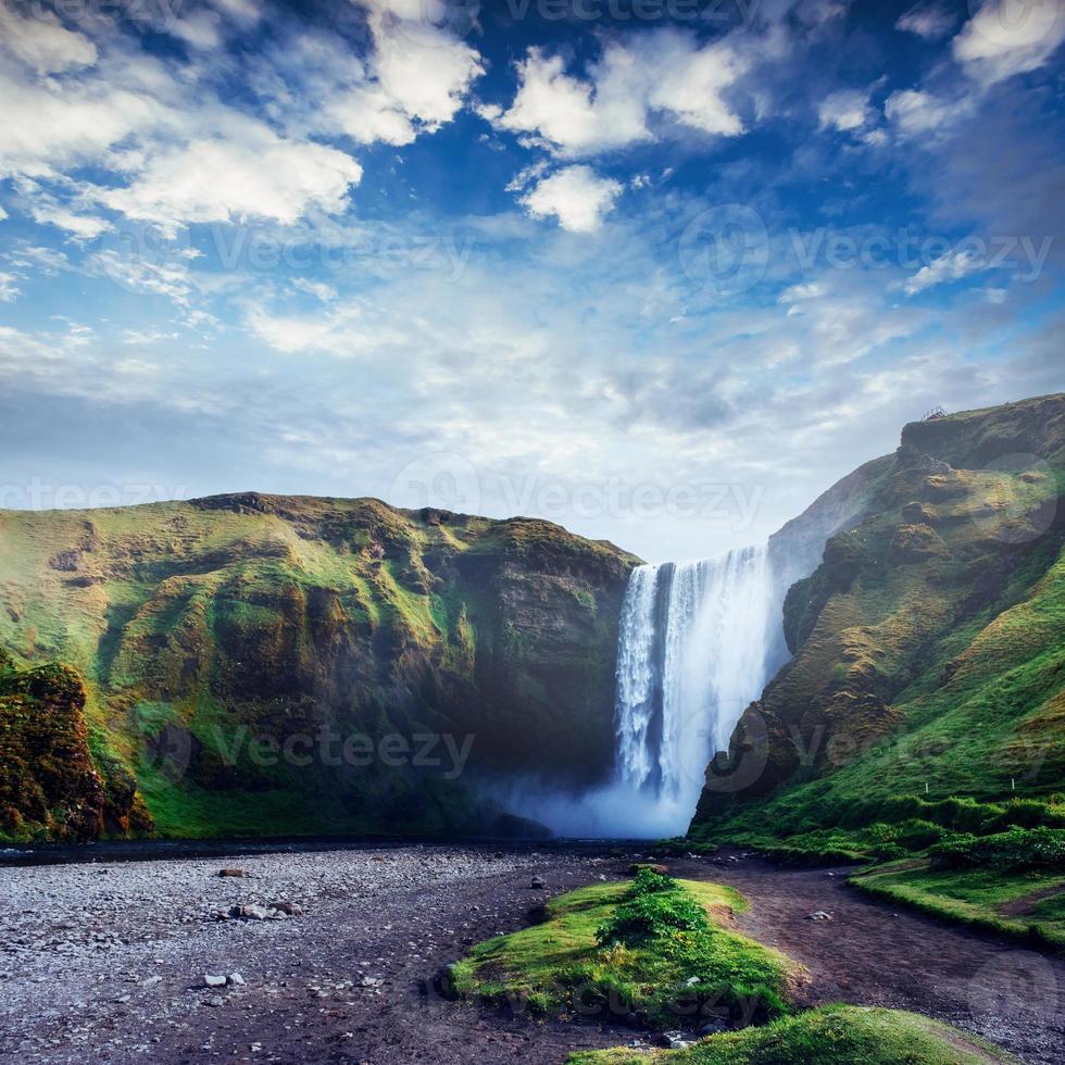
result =
[[[765,547],[701,562],[639,566],[617,652],[619,781],[644,801],[687,810],[706,763],[778,666],[779,596]]]

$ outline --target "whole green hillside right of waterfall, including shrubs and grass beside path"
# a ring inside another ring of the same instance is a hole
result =
[[[1024,900],[1065,888],[1065,396],[907,425],[863,491],[788,594],[793,659],[691,838],[911,860],[867,886],[1025,929]]]

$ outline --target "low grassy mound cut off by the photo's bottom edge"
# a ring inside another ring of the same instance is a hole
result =
[[[822,1006],[687,1050],[574,1054],[569,1065],[987,1065],[1016,1058],[950,1025],[897,1010]]]

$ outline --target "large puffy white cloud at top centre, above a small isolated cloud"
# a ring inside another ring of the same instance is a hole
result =
[[[566,73],[561,55],[534,48],[518,63],[510,108],[484,108],[481,115],[569,158],[647,140],[655,115],[704,134],[736,136],[743,123],[725,95],[747,68],[727,40],[700,46],[672,29],[607,43],[587,78]]]

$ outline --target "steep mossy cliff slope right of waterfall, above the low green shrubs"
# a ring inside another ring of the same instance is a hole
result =
[[[697,835],[753,824],[752,802],[768,830],[926,785],[1061,786],[1065,396],[907,425],[848,480],[785,601],[793,657],[711,766]]]

